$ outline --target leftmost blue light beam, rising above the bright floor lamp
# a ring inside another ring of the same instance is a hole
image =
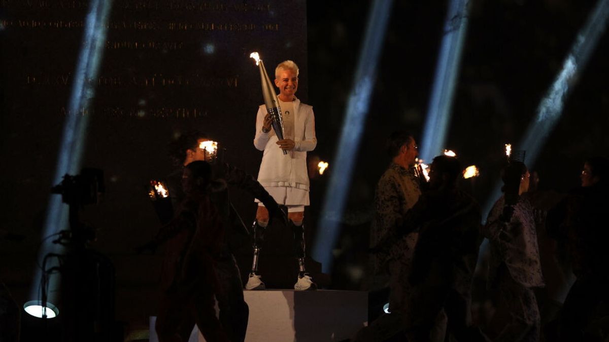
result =
[[[91,0],[85,18],[83,38],[74,80],[68,103],[68,116],[63,127],[62,141],[58,151],[57,166],[52,184],[62,181],[64,175],[77,173],[80,170],[85,132],[88,126],[90,103],[95,94],[97,73],[106,41],[108,14],[111,1]],[[80,114],[83,113],[83,114]],[[51,195],[44,222],[43,237],[49,237],[68,226],[68,209],[63,206],[62,197]],[[43,260],[49,253],[61,254],[63,248],[57,244],[44,243],[40,248],[38,260]],[[30,298],[38,298],[44,270],[37,270],[32,284]],[[49,288],[58,287],[58,276],[49,277]],[[53,291],[51,291],[53,292]],[[50,298],[52,300],[52,298]]]

